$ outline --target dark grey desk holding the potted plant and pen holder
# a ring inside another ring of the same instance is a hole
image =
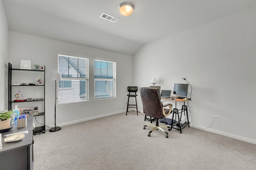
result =
[[[33,169],[33,115],[28,116],[27,126],[14,127],[2,133],[2,149],[0,149],[0,170],[32,170]],[[5,134],[28,130],[25,137],[17,142],[4,142]]]

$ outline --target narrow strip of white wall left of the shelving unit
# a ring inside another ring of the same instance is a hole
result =
[[[0,110],[8,109],[8,24],[0,0]],[[7,74],[6,74],[7,73]]]

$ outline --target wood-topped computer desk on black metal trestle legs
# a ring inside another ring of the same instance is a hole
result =
[[[175,102],[175,108],[173,109],[173,114],[172,114],[172,120],[174,120],[174,114],[175,114],[175,120],[176,120],[176,123],[172,123],[171,124],[171,130],[172,130],[172,128],[174,128],[174,129],[177,129],[177,130],[180,130],[180,133],[182,133],[182,129],[183,128],[185,128],[185,127],[190,127],[190,125],[189,125],[189,120],[188,120],[188,108],[187,108],[187,106],[186,106],[186,104],[185,104],[185,102],[186,101],[188,101],[188,99],[187,100],[177,100],[175,97],[174,97],[174,99],[171,99],[171,98],[161,98],[161,100],[166,100],[166,101],[172,101],[172,102]],[[182,103],[182,102],[184,102],[184,104],[182,105],[182,109],[177,109],[177,102],[179,102],[179,103]],[[182,113],[184,113],[184,115],[185,115],[185,113],[186,113],[186,115],[187,115],[187,122],[185,122],[184,124],[181,124],[180,123],[180,120],[181,120],[181,118],[182,118]],[[177,120],[177,117],[176,116],[178,116],[178,120]]]

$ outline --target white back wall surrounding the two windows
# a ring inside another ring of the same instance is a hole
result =
[[[56,108],[57,125],[68,125],[122,113],[126,110],[124,102],[127,100],[127,86],[132,85],[133,78],[132,56],[10,31],[8,62],[12,63],[13,68],[20,68],[20,59],[31,59],[31,65],[46,65],[46,125],[54,125],[54,81],[50,81],[49,78],[51,72],[57,71],[58,51],[88,56],[90,102],[76,105],[58,105]],[[103,100],[101,102],[93,100],[94,57],[116,61],[117,99]],[[22,95],[27,98],[33,94],[22,93]]]

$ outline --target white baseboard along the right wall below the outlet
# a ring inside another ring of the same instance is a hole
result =
[[[198,129],[205,128],[205,127],[201,127],[201,126],[197,126],[197,125],[194,125],[193,127],[198,128]],[[202,130],[205,130],[205,131],[208,131],[208,132],[213,132],[213,133],[220,134],[220,135],[223,135],[223,136],[227,136],[227,137],[230,137],[230,138],[235,138],[235,139],[238,139],[238,140],[242,140],[242,141],[245,141],[245,142],[256,144],[256,140],[251,139],[251,138],[246,138],[246,137],[238,136],[238,135],[235,135],[235,134],[226,133],[226,132],[222,132],[222,131],[219,131],[219,130],[214,130],[214,129],[211,129],[211,128],[205,128],[205,129],[202,129]]]

